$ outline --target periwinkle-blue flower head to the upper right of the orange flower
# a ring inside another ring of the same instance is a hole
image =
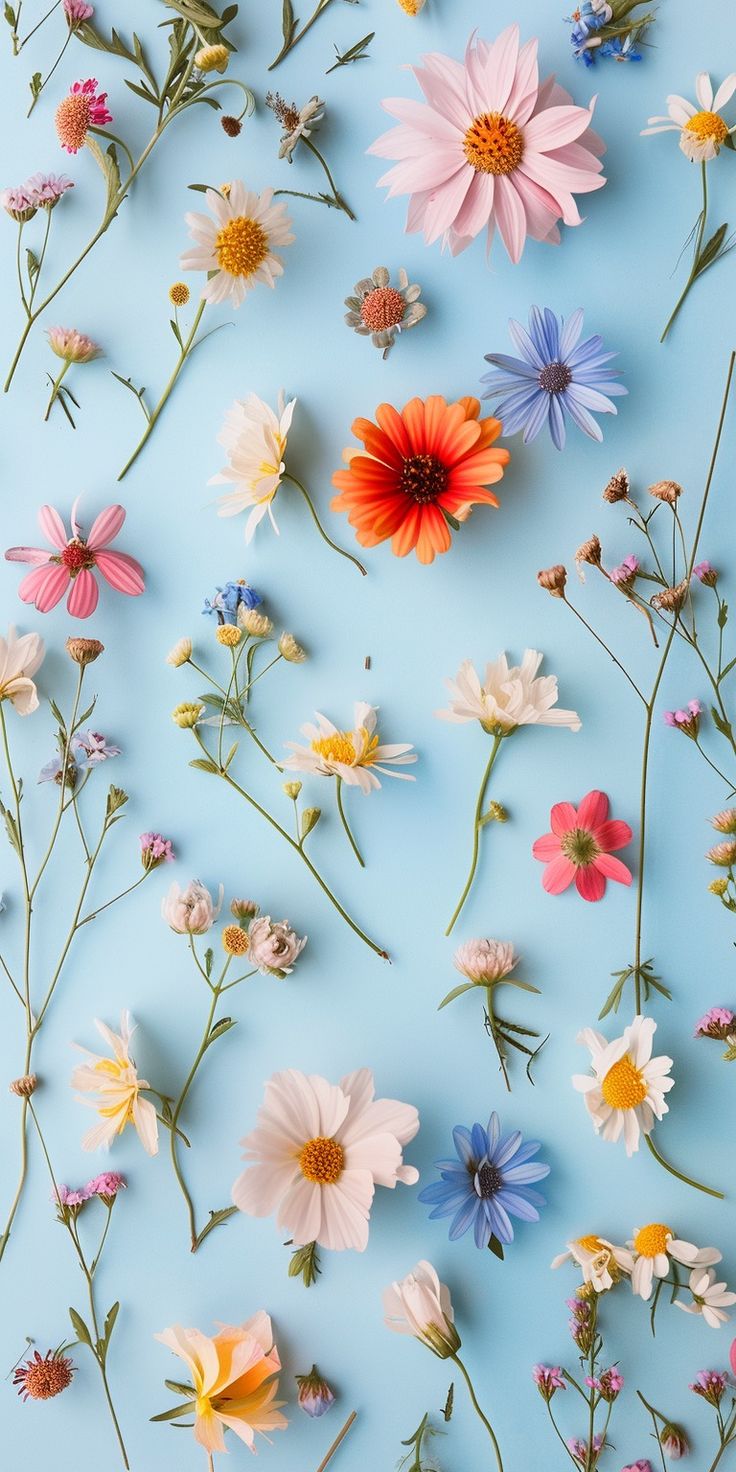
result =
[[[545,424],[558,450],[565,443],[565,415],[583,434],[602,440],[601,425],[593,414],[615,414],[611,394],[629,393],[617,383],[618,372],[609,368],[617,353],[602,352],[602,337],[586,337],[583,311],[565,319],[555,316],[549,306],[533,306],[528,333],[521,322],[509,321],[509,333],[521,358],[486,353],[495,371],[483,375],[487,384],[484,399],[498,399],[496,414],[503,424],[503,436],[524,431],[524,445],[534,440]]]

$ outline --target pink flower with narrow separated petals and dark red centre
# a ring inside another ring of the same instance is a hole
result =
[[[7,562],[32,562],[32,573],[22,578],[18,595],[24,604],[34,604],[40,614],[50,612],[69,589],[66,606],[74,618],[88,618],[97,608],[100,596],[93,568],[102,573],[106,583],[118,593],[137,598],[144,590],[143,568],[135,558],[127,552],[110,552],[107,543],[113,542],[125,521],[124,506],[106,506],[93,521],[88,536],[77,521],[75,500],[72,506],[72,534],[66,536],[66,527],[53,506],[41,506],[38,526],[53,546],[53,552],[44,548],[9,548]]]

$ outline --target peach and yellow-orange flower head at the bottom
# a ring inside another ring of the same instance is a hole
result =
[[[174,1415],[194,1416],[194,1440],[212,1456],[227,1451],[225,1431],[234,1431],[250,1451],[256,1434],[286,1431],[278,1395],[281,1360],[274,1344],[271,1319],[261,1309],[241,1325],[224,1325],[213,1338],[200,1329],[174,1325],[155,1335],[184,1360],[191,1378],[191,1400]],[[163,1412],[153,1420],[171,1420]]]

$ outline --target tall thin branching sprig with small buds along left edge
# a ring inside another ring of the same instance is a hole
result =
[[[25,637],[37,639],[37,636]],[[38,645],[43,651],[40,640]],[[66,640],[66,652],[71,661],[77,665],[77,687],[71,702],[71,712],[68,715],[62,714],[56,701],[49,699],[49,708],[56,726],[54,737],[57,757],[49,762],[47,767],[44,767],[41,782],[44,785],[47,782],[56,785],[59,796],[53,818],[50,820],[50,832],[41,842],[40,857],[38,854],[34,854],[35,842],[31,842],[29,836],[31,814],[26,811],[26,783],[18,773],[16,758],[13,755],[12,729],[6,715],[7,699],[12,699],[12,696],[6,698],[3,693],[0,698],[0,740],[4,758],[4,777],[0,782],[3,789],[3,796],[0,796],[0,818],[4,824],[7,842],[18,861],[22,895],[18,935],[13,938],[18,958],[9,957],[3,948],[3,954],[0,954],[0,970],[22,1010],[25,1039],[22,1069],[24,1078],[32,1076],[37,1038],[47,1017],[56,988],[66,969],[69,954],[79,932],[84,926],[97,920],[99,916],[118,901],[138,889],[140,885],[146,882],[149,874],[159,867],[159,864],[174,857],[171,843],[160,839],[160,835],[144,835],[144,839],[150,839],[150,843],[144,843],[141,841],[141,870],[138,876],[125,885],[124,889],[115,892],[109,899],[94,904],[91,908],[88,907],[90,886],[96,874],[100,855],[103,854],[103,849],[106,851],[109,836],[122,818],[122,810],[128,802],[128,793],[124,792],[122,788],[110,785],[102,804],[99,832],[94,838],[88,835],[85,804],[81,802],[82,793],[90,783],[93,786],[96,785],[96,768],[106,758],[106,754],[112,755],[116,752],[116,748],[106,746],[105,739],[100,737],[99,733],[85,730],[85,726],[96,708],[96,698],[85,708],[82,708],[87,667],[93,664],[103,654],[103,651],[105,645],[102,645],[99,639],[71,637]],[[38,664],[41,662],[41,658],[43,652],[38,657]],[[31,711],[32,710],[34,707],[31,705]],[[44,799],[47,799],[46,786]],[[49,905],[52,902],[56,904],[56,901],[52,901],[52,896],[49,895],[50,880],[57,877],[62,882],[68,882],[69,879],[69,852],[68,849],[62,851],[59,848],[59,839],[62,835],[66,835],[71,823],[74,823],[77,829],[81,846],[79,892],[72,901],[65,936],[56,960],[52,961],[50,967],[46,964],[40,966],[35,961],[35,938],[38,926],[41,924],[44,930],[47,929]],[[32,827],[35,829],[35,815],[32,818]],[[156,841],[158,845],[156,854],[152,848],[153,841]],[[28,1097],[22,1092],[19,1097],[22,1100],[19,1179],[9,1207],[4,1229],[0,1235],[0,1259],[3,1257],[10,1238],[25,1191],[28,1172],[26,1136],[29,1104]]]

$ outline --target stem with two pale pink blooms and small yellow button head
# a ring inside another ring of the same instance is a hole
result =
[[[283,980],[291,973],[297,957],[306,945],[306,936],[300,939],[289,924],[289,920],[272,921],[271,916],[261,914],[261,908],[255,901],[233,899],[230,905],[233,920],[224,924],[221,930],[224,960],[218,969],[212,946],[208,946],[203,957],[200,957],[196,938],[206,935],[212,929],[221,904],[222,892],[219,904],[215,907],[209,891],[199,880],[193,880],[184,891],[178,885],[172,885],[162,905],[163,919],[171,929],[177,935],[187,938],[197,974],[209,992],[205,1032],[191,1067],[177,1098],[163,1104],[163,1122],[169,1129],[171,1164],[187,1207],[190,1247],[193,1253],[202,1247],[202,1242],[216,1226],[230,1220],[237,1211],[236,1206],[221,1207],[209,1213],[209,1220],[205,1226],[197,1228],[194,1201],[184,1178],[180,1157],[180,1144],[184,1142],[188,1145],[188,1139],[181,1133],[178,1126],[199,1069],[213,1044],[219,1042],[236,1026],[234,1017],[218,1016],[221,999],[225,992],[234,991],[241,982],[247,982],[258,974],[275,976]],[[233,963],[236,963],[236,970],[240,966],[244,966],[246,970],[240,972],[238,976],[233,976]]]

